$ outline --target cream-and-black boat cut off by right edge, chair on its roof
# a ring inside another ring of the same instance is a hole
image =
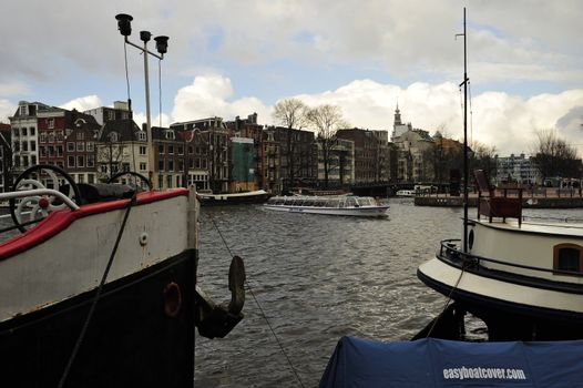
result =
[[[520,188],[497,196],[475,178],[466,242],[442,242],[418,277],[482,319],[491,340],[583,339],[583,223],[523,221]]]

